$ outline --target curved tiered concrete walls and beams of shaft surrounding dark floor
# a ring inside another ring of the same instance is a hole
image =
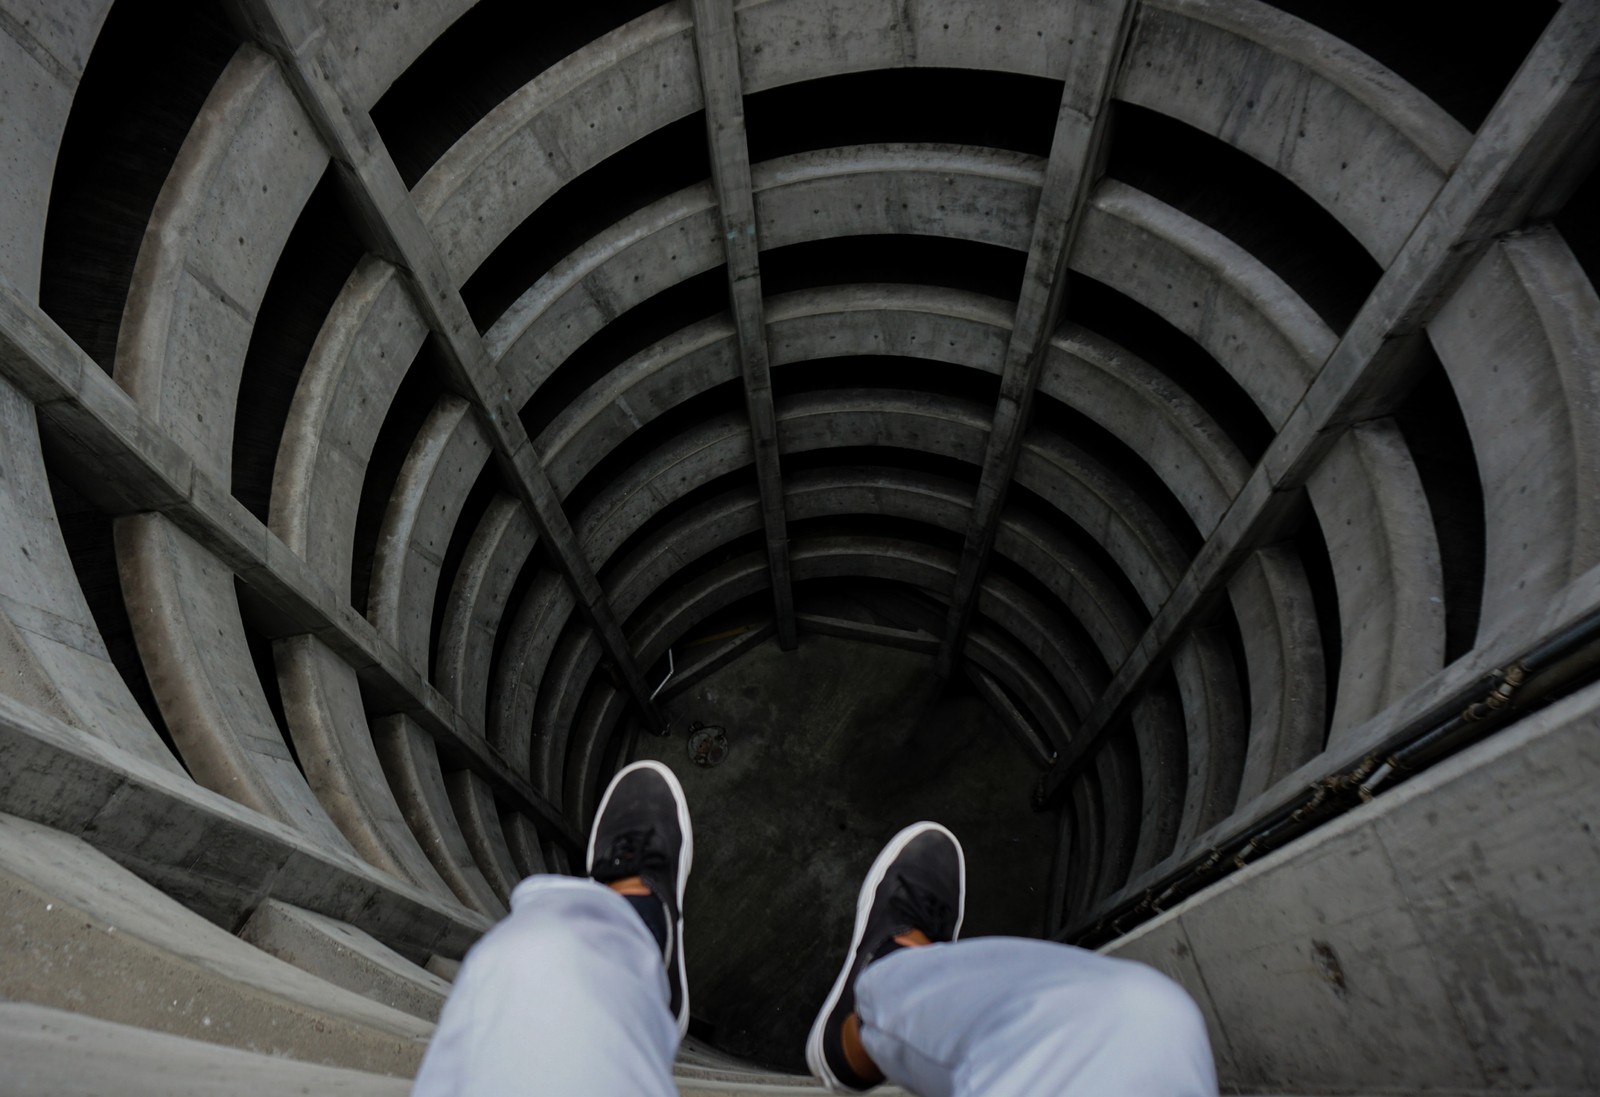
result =
[[[0,715],[213,921],[459,955],[827,636],[1058,934],[1600,564],[1592,3],[531,8],[0,5]]]

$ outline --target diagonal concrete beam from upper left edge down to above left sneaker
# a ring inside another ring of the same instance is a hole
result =
[[[646,726],[662,728],[650,686],[510,401],[509,385],[490,357],[461,297],[461,286],[450,277],[371,115],[350,94],[322,16],[307,0],[234,0],[234,10],[246,32],[283,67],[301,107],[328,146],[368,246],[405,275],[422,318],[445,352],[450,387],[472,403],[483,421],[496,464],[528,509],[541,544],[549,547],[571,585],[576,604],[616,667],[624,691]]]

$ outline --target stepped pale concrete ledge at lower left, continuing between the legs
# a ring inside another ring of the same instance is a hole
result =
[[[450,983],[371,935],[266,900],[230,935],[72,838],[0,816],[0,1092],[405,1094]],[[686,1041],[680,1089],[811,1079]]]

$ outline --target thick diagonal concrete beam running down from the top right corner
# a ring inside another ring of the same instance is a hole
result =
[[[1118,713],[1210,611],[1243,558],[1274,539],[1306,485],[1354,424],[1389,414],[1414,381],[1424,331],[1499,235],[1547,217],[1600,147],[1600,3],[1565,3],[1483,122],[1456,171],[1373,288],[1299,406],[1206,539],[1144,636],[1085,718],[1040,806],[1104,744]]]

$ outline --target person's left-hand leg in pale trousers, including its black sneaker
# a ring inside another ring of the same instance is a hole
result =
[[[594,880],[531,876],[467,953],[413,1097],[582,1092],[675,1097],[688,1025],[683,888],[694,840],[661,763],[606,788]]]

